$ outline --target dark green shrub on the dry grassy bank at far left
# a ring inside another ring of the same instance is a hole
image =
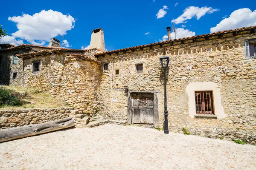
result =
[[[26,93],[20,94],[11,89],[0,87],[0,107],[23,105],[24,102],[21,100],[23,96],[26,96]]]

